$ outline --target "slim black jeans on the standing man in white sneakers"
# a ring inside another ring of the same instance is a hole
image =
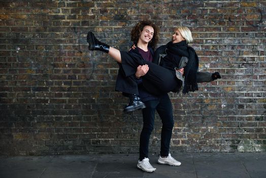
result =
[[[168,94],[159,97],[158,100],[144,102],[146,108],[142,109],[143,129],[140,136],[140,161],[148,158],[149,139],[154,127],[155,110],[158,112],[161,122],[161,150],[160,155],[167,157],[169,154],[170,140],[174,127],[174,116],[171,100]]]

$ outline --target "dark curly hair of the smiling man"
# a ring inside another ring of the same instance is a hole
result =
[[[155,49],[156,45],[159,41],[159,28],[157,27],[157,25],[155,25],[150,20],[142,20],[134,26],[134,28],[131,30],[131,33],[130,33],[131,41],[137,45],[137,43],[139,41],[140,34],[143,31],[144,26],[146,26],[146,25],[152,26],[154,29],[154,34],[153,34],[153,37],[151,39],[151,42],[149,43],[149,46],[152,47],[153,49]]]

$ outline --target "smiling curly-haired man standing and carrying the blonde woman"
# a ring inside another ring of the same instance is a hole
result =
[[[157,36],[158,30],[157,26],[155,26],[150,21],[148,22],[149,23],[141,21],[138,25],[135,26],[135,29],[131,31],[131,41],[135,42],[135,44],[137,44],[137,47],[135,49],[131,49],[129,51],[129,54],[134,56],[141,56],[144,60],[152,62],[154,51],[152,47],[149,47],[149,41],[153,40],[152,37],[154,35]],[[155,33],[154,31],[152,31],[151,27],[155,28]],[[146,33],[147,29],[148,31],[150,31],[151,35]],[[132,34],[132,32],[141,33],[134,35]],[[136,38],[137,36],[139,37],[138,40],[134,39],[134,37]],[[174,127],[174,117],[171,100],[167,93],[155,96],[150,94],[149,91],[147,91],[143,87],[141,83],[141,77],[144,76],[148,72],[148,70],[148,65],[142,65],[137,68],[137,72],[135,74],[136,78],[139,79],[139,97],[146,106],[142,109],[143,129],[140,135],[140,157],[137,167],[146,172],[153,172],[156,170],[156,168],[154,168],[149,163],[148,153],[149,139],[154,127],[155,110],[158,112],[162,122],[161,150],[158,163],[168,164],[172,166],[180,166],[181,163],[175,160],[169,153],[170,141]]]

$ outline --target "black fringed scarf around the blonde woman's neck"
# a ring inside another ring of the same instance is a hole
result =
[[[184,68],[185,84],[182,93],[186,94],[198,90],[196,75],[198,70],[198,57],[195,50],[188,46],[186,41],[181,41],[179,43],[169,42],[167,44],[167,49],[173,54],[186,56],[188,58],[188,63]]]

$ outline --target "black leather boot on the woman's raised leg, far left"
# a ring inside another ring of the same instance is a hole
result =
[[[93,51],[103,51],[108,53],[110,46],[98,41],[92,32],[88,32],[87,42],[89,43],[89,50]]]

